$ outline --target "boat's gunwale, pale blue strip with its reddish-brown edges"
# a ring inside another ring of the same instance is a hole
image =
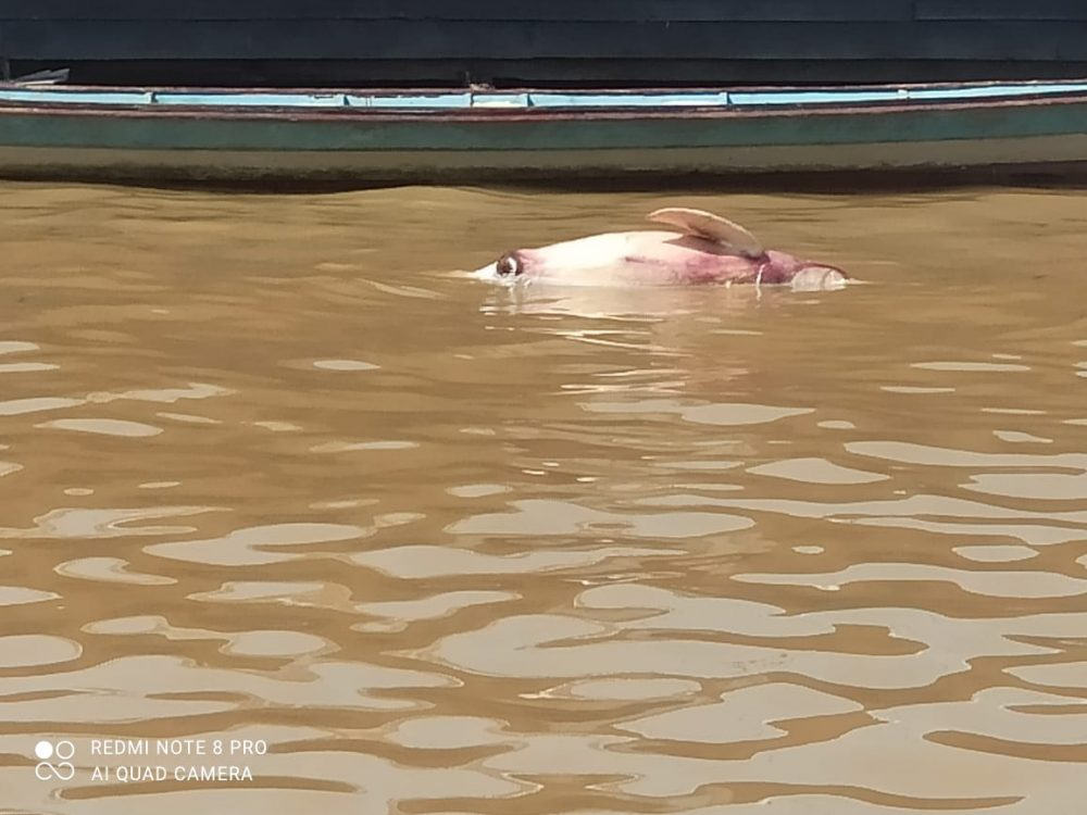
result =
[[[987,93],[996,89],[998,92]],[[1037,89],[1037,92],[1032,92]],[[14,92],[13,92],[14,91]],[[1002,91],[1002,92],[1001,92]],[[28,99],[20,99],[24,92]],[[923,98],[911,93],[926,93]],[[4,96],[11,93],[11,96]],[[50,93],[62,99],[50,100]],[[940,96],[946,93],[946,96]],[[549,98],[546,103],[534,104],[533,97]],[[79,99],[79,97],[86,99]],[[834,99],[840,96],[841,99]],[[118,97],[110,99],[110,97]],[[161,97],[157,98],[157,97]],[[192,99],[186,99],[192,97]],[[217,98],[237,97],[235,103],[221,103]],[[555,97],[559,101],[555,101]],[[582,103],[572,100],[585,98]],[[624,97],[638,101],[624,104]],[[701,100],[700,97],[717,97]],[[745,97],[760,97],[757,100]],[[791,98],[790,97],[796,97]],[[858,98],[869,97],[869,98]],[[882,98],[880,98],[882,97]],[[175,101],[180,98],[182,101]],[[267,98],[266,103],[262,103]],[[328,98],[330,103],[322,103]],[[337,98],[339,98],[337,100]],[[446,104],[439,100],[463,100],[464,104]],[[657,101],[657,98],[660,98]],[[686,98],[686,99],[685,99]],[[1077,101],[1087,98],[1087,78],[1033,79],[1021,82],[969,83],[914,83],[883,85],[837,86],[719,86],[699,88],[602,88],[602,89],[352,89],[352,88],[193,88],[182,86],[88,86],[88,85],[22,85],[17,82],[0,83],[0,111],[34,112],[99,110],[107,114],[121,111],[149,112],[155,116],[172,117],[178,112],[199,113],[209,118],[260,118],[262,114],[277,118],[329,120],[345,116],[370,121],[405,118],[442,120],[463,122],[486,121],[501,117],[516,121],[518,115],[539,121],[540,117],[562,120],[577,115],[582,118],[609,118],[609,114],[636,117],[664,116],[669,118],[698,118],[702,115],[754,113],[774,116],[821,113],[827,111],[857,111],[864,113],[900,112],[903,110],[958,110],[960,108],[999,108],[1048,101]],[[102,101],[102,100],[105,101]],[[205,101],[202,101],[205,100]],[[358,100],[358,101],[355,101]],[[388,104],[401,100],[403,104]],[[435,103],[427,103],[434,100]],[[523,100],[523,101],[522,101]],[[571,100],[571,101],[563,101]],[[225,114],[225,115],[216,115]]]

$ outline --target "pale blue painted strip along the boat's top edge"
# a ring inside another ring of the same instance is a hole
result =
[[[691,91],[200,91],[175,89],[26,88],[0,85],[0,103],[147,108],[367,108],[400,111],[484,109],[780,108],[902,102],[955,102],[1079,96],[1087,82],[1001,85]]]

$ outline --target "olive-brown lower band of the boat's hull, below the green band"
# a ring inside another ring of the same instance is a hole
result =
[[[1087,136],[911,145],[492,151],[254,151],[0,147],[0,176],[23,180],[418,184],[545,181],[617,175],[733,176],[916,172],[1087,178]]]

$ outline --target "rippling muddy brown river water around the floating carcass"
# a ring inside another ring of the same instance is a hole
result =
[[[1082,810],[1083,193],[0,202],[0,812]],[[867,285],[452,274],[670,204]]]

